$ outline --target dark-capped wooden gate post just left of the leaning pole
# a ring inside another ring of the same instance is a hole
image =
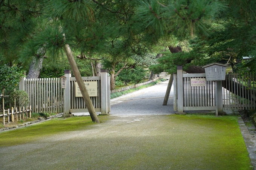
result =
[[[69,114],[70,112],[70,77],[71,70],[64,70],[64,75],[66,79],[66,89],[64,94],[64,114]]]

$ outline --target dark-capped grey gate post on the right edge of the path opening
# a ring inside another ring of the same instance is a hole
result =
[[[183,66],[177,66],[177,104],[176,114],[186,114],[183,112]]]

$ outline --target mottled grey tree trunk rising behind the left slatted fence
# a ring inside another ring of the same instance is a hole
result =
[[[37,59],[37,57],[33,58],[33,61],[29,67],[29,73],[27,74],[27,78],[38,78],[39,77],[40,71],[43,66],[43,60],[44,60],[44,57],[40,57],[39,59]]]

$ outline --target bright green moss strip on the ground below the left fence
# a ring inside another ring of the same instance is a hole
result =
[[[99,119],[105,120],[106,116],[99,116]],[[24,128],[1,132],[0,147],[24,144],[30,141],[36,141],[40,137],[58,134],[60,132],[75,131],[90,128],[93,124],[90,116],[69,117],[68,119],[55,118],[36,125],[30,125]]]

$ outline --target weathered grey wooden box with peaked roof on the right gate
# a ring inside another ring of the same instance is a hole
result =
[[[226,68],[228,65],[221,63],[210,63],[202,66],[205,70],[206,81],[220,81],[225,80]]]

